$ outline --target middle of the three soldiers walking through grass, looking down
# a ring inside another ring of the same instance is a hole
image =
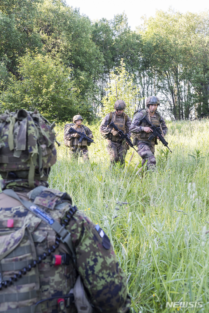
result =
[[[131,136],[129,127],[131,125],[130,117],[124,112],[126,104],[123,100],[117,100],[114,104],[114,112],[108,113],[99,127],[102,136],[107,139],[107,152],[110,155],[110,165],[120,162],[122,166],[125,164],[125,157],[129,146],[121,139],[118,131],[108,125],[114,122],[124,134]]]

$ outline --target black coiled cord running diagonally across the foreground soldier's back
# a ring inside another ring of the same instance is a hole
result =
[[[77,211],[77,207],[74,205],[74,207],[70,208],[70,210],[66,214],[66,218],[64,219],[64,223],[62,223],[62,226],[66,227],[67,224],[70,222],[73,214]],[[2,280],[0,283],[0,290],[2,290],[2,287],[7,288],[8,286],[13,284],[13,281],[17,281],[19,278],[22,277],[22,275],[25,275],[27,272],[29,272],[33,267],[36,267],[36,264],[40,264],[43,260],[46,259],[47,256],[50,256],[60,245],[60,236],[57,236],[55,239],[55,245],[51,246],[50,249],[48,249],[47,253],[40,254],[38,256],[38,260],[33,260],[32,264],[29,264],[28,267],[24,267],[23,269],[20,269],[18,274],[14,274],[12,277],[9,277],[8,280]],[[60,297],[58,297],[60,298]],[[43,300],[45,301],[45,300]]]

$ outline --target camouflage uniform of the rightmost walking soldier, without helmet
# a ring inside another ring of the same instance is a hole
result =
[[[149,118],[148,109],[146,110],[146,116]],[[146,133],[144,131],[144,127],[146,126],[149,127],[149,125],[145,124],[142,125],[143,123],[140,122],[142,117],[143,117],[142,111],[135,114],[129,130],[132,133],[132,137],[134,135],[137,138],[138,154],[142,158],[142,166],[147,160],[147,168],[153,169],[156,166],[156,160],[154,156],[154,146],[157,144],[157,138],[154,138],[153,141],[148,141],[148,138],[151,135],[151,133]],[[157,113],[154,113],[154,116],[150,118],[152,123],[155,123],[156,125],[159,126],[159,117]],[[160,118],[160,124],[165,135],[168,131],[168,128],[162,116]]]

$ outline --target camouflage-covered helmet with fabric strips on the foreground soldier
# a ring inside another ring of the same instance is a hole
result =
[[[3,178],[47,180],[56,162],[55,124],[37,110],[6,111],[0,115],[0,174]]]

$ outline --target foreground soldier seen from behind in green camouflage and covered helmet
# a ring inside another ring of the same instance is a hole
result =
[[[36,110],[0,116],[0,312],[128,312],[107,235],[66,192],[48,188],[53,127]]]

